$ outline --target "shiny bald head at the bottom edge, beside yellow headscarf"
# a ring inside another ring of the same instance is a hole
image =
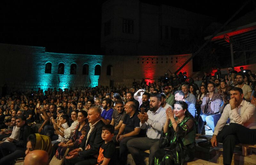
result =
[[[48,153],[44,150],[29,152],[24,160],[24,165],[48,165]]]

